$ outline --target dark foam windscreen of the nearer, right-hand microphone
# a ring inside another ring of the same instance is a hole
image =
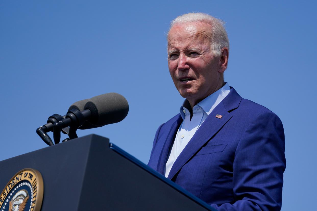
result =
[[[85,109],[89,109],[92,114],[88,122],[102,127],[122,121],[129,112],[129,104],[124,96],[111,92],[88,99]]]

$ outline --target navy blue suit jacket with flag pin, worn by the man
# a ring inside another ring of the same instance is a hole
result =
[[[161,174],[182,121],[178,114],[155,134],[148,165]],[[280,210],[284,150],[278,116],[231,88],[178,156],[168,178],[219,211]]]

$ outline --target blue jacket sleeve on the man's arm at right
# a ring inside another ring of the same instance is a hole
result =
[[[233,162],[232,203],[211,204],[219,211],[281,210],[285,139],[281,120],[263,112],[243,133]]]

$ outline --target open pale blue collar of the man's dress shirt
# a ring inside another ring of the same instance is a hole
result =
[[[211,95],[207,96],[204,100],[197,103],[194,106],[193,110],[197,110],[197,108],[202,108],[204,112],[209,115],[211,111],[225,98],[230,92],[230,86],[226,82],[223,87],[219,90],[215,91]],[[183,106],[180,107],[180,115],[182,116],[183,120],[185,119],[186,115],[189,115],[190,112],[187,108],[190,107],[190,104],[187,100],[184,101]]]

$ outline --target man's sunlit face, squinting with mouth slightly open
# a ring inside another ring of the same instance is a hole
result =
[[[175,24],[167,37],[168,68],[191,106],[222,87],[221,61],[210,49],[211,26],[203,22]]]

